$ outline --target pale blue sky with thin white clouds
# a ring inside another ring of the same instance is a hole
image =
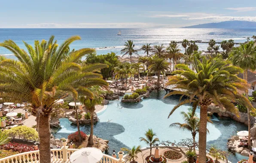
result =
[[[256,0],[1,0],[0,28],[177,28],[256,21]]]

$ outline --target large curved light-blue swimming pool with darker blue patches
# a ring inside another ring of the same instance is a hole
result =
[[[165,91],[154,91],[150,98],[144,99],[140,103],[121,103],[120,100],[113,100],[107,106],[104,112],[98,114],[100,121],[94,125],[94,135],[110,141],[109,152],[113,149],[119,151],[122,147],[131,148],[133,145],[146,147],[139,138],[144,137],[148,128],[157,134],[160,141],[170,140],[179,142],[180,139],[191,138],[191,133],[187,131],[170,128],[171,123],[183,123],[181,111],[187,112],[191,105],[180,106],[170,118],[168,118],[171,109],[179,102],[179,97],[171,96],[163,99]],[[120,98],[121,99],[121,98]],[[199,116],[200,110],[196,110]],[[226,150],[227,139],[240,130],[247,130],[244,124],[233,121],[230,118],[217,118],[213,116],[213,124],[208,124],[210,133],[207,135],[207,145],[216,145],[216,147]],[[67,118],[61,118],[61,127],[55,137],[66,137],[76,132],[76,126],[71,126]],[[90,133],[90,126],[83,126],[81,130],[86,134]],[[197,135],[198,136],[198,135]],[[230,156],[232,162],[237,162],[235,156]]]

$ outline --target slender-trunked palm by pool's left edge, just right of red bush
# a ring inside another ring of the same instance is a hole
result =
[[[81,96],[80,101],[81,103],[86,107],[86,110],[90,112],[91,115],[91,132],[90,136],[88,138],[88,145],[93,145],[93,125],[94,125],[94,111],[95,111],[95,105],[101,104],[103,98],[101,97],[101,94],[99,92],[93,92],[92,97],[88,96]]]

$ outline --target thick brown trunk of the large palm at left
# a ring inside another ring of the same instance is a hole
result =
[[[38,133],[40,138],[40,163],[50,163],[51,162],[51,148],[50,139],[51,131],[49,126],[49,115],[38,117]]]

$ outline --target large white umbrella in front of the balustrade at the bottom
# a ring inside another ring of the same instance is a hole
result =
[[[82,148],[70,156],[70,163],[98,163],[103,157],[100,149]]]

